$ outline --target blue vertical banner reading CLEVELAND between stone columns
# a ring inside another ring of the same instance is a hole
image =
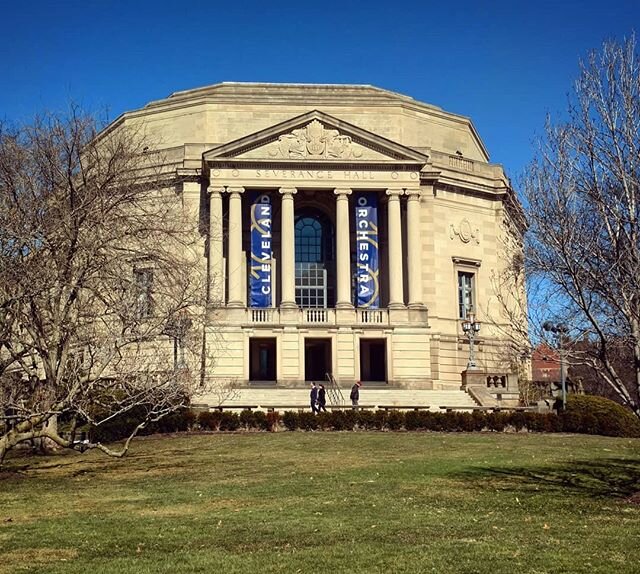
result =
[[[251,204],[249,306],[271,307],[271,199],[257,195]]]

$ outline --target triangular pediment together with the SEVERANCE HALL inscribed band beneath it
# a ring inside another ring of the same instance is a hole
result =
[[[251,188],[419,187],[428,160],[318,110],[203,154],[210,185]]]

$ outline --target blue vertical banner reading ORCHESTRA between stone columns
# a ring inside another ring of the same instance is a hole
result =
[[[373,193],[356,197],[356,270],[356,306],[378,309],[378,198]]]

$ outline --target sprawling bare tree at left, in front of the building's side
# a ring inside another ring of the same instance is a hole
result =
[[[0,125],[0,463],[44,438],[122,456],[200,383],[197,221],[149,148],[76,109]],[[132,409],[121,449],[75,440]]]

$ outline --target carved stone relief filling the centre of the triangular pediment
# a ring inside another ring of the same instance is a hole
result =
[[[304,128],[281,135],[270,147],[269,155],[286,159],[358,159],[362,151],[351,136],[327,130],[318,120],[313,120]]]

